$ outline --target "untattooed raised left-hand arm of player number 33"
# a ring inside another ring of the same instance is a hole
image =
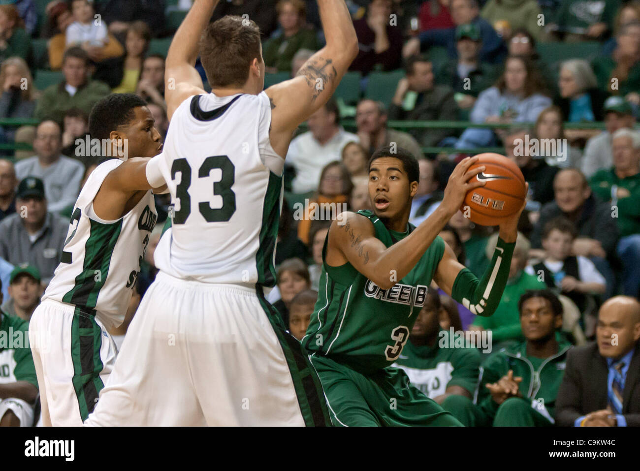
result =
[[[180,103],[192,95],[205,93],[195,63],[200,36],[217,4],[218,0],[195,0],[173,36],[164,68],[164,99],[169,120]]]

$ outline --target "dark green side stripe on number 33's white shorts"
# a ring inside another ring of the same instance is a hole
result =
[[[331,426],[331,418],[323,400],[324,392],[316,369],[308,360],[307,352],[298,340],[282,327],[282,320],[278,312],[264,298],[262,287],[257,285],[257,294],[260,306],[267,315],[271,328],[278,338],[282,353],[284,353],[289,372],[293,381],[298,406],[307,427]]]

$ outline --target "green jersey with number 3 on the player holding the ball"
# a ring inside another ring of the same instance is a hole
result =
[[[389,230],[371,211],[358,211],[369,218],[376,238],[389,247],[409,235]],[[346,230],[349,224],[333,230]],[[409,339],[413,323],[424,305],[427,289],[444,255],[440,236],[419,262],[390,289],[380,289],[350,263],[339,267],[326,264],[326,241],[318,299],[302,344],[311,355],[321,355],[360,372],[387,367],[399,358]]]

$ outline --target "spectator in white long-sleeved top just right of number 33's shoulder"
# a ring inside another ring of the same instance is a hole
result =
[[[287,164],[296,170],[294,193],[316,191],[320,172],[326,164],[339,161],[349,142],[360,142],[356,134],[340,126],[340,112],[335,100],[329,100],[307,120],[309,130],[291,141]]]

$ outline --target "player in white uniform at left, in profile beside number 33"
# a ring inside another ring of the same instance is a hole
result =
[[[146,157],[138,161],[156,156],[162,144],[146,105],[131,94],[100,100],[89,118],[92,139],[111,139],[120,151],[126,142],[129,155]],[[127,186],[125,160],[100,164],[84,184],[60,265],[29,323],[45,426],[82,425],[115,362],[107,329],[124,321],[157,220],[152,192]]]

